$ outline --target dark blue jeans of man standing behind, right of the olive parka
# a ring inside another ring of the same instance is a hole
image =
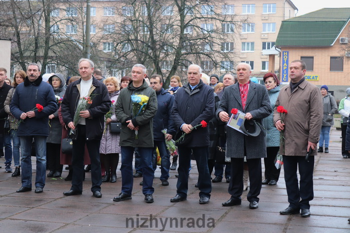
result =
[[[154,142],[154,152],[156,148],[158,147],[159,155],[161,158],[161,166],[160,166],[160,180],[167,180],[169,178],[169,170],[170,170],[170,154],[168,150],[166,149],[165,141],[153,141]],[[156,169],[156,156],[155,161],[153,161],[153,170]],[[155,166],[154,166],[155,165]]]

